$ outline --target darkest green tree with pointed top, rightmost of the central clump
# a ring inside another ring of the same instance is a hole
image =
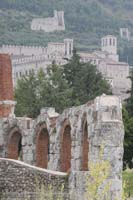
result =
[[[64,66],[64,74],[73,87],[73,104],[83,104],[102,93],[111,94],[109,84],[102,78],[95,65],[82,63],[74,50],[73,57]]]

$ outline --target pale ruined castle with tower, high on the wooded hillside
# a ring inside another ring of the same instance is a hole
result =
[[[64,31],[64,11],[54,11],[54,17],[35,18],[31,23],[31,30],[45,32]]]

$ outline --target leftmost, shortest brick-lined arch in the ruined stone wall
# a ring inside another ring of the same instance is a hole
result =
[[[9,134],[8,158],[22,160],[22,135],[18,128],[14,128]]]

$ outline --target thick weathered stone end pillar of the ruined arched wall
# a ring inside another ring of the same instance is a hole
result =
[[[104,94],[97,97],[94,112],[96,119],[95,128],[90,136],[89,162],[99,162],[100,147],[103,146],[102,159],[110,165],[110,175],[107,180],[111,183],[109,197],[111,200],[121,200],[124,126],[120,98]]]

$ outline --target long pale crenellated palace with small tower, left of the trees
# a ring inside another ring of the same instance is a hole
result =
[[[64,42],[50,42],[47,47],[41,46],[11,46],[3,45],[0,53],[7,53],[12,57],[13,84],[29,73],[35,74],[39,69],[47,73],[47,67],[55,61],[58,65],[67,63],[73,55],[73,39],[64,39]]]

